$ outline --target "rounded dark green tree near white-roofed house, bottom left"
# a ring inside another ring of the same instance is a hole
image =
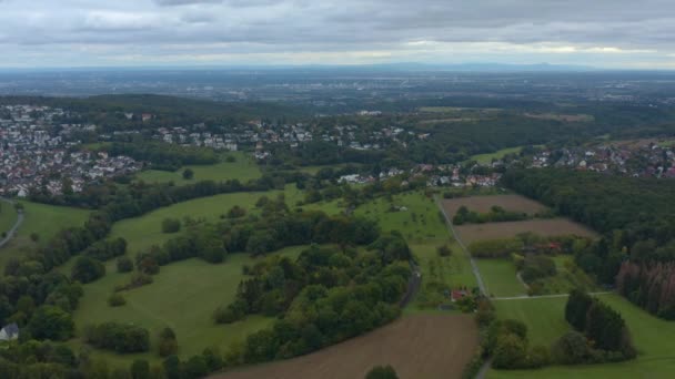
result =
[[[30,335],[37,339],[67,340],[74,331],[72,317],[54,306],[39,307],[28,325]]]

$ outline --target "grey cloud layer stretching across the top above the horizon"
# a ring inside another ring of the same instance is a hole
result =
[[[174,45],[194,54],[394,51],[417,41],[675,52],[671,0],[33,0],[30,9],[0,2],[0,44],[10,52],[51,45],[158,54]]]

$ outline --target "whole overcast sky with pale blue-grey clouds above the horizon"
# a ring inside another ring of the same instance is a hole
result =
[[[675,69],[673,0],[0,0],[0,66]]]

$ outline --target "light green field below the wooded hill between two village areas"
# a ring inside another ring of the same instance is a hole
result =
[[[239,180],[246,183],[250,180],[259,178],[262,173],[253,162],[253,160],[244,153],[232,152],[226,155],[232,155],[236,162],[221,162],[213,165],[192,165],[181,167],[175,172],[148,170],[137,174],[137,178],[147,183],[168,183],[173,182],[177,185],[185,185],[198,181],[226,181]],[[190,181],[183,178],[183,171],[191,168],[194,172],[194,177]]]

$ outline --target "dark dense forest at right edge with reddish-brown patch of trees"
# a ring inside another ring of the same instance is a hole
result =
[[[585,272],[653,314],[675,307],[663,280],[675,274],[675,182],[550,168],[510,171],[503,183],[603,233],[575,253]]]

